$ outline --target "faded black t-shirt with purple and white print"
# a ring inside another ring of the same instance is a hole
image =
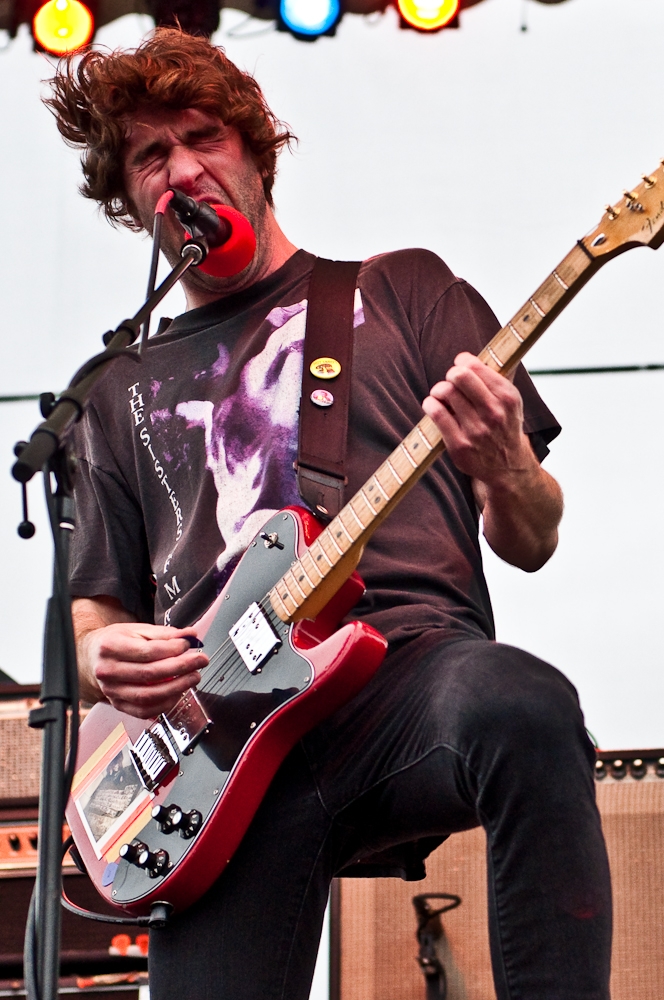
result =
[[[271,514],[302,504],[293,461],[308,282],[295,253],[244,292],[179,316],[141,364],[112,362],[75,435],[72,593],[184,626],[212,603]],[[498,322],[425,250],[365,261],[355,296],[347,499],[422,416],[429,388]],[[334,357],[334,344],[329,355]],[[541,459],[559,426],[523,369]],[[352,613],[394,645],[432,628],[493,637],[470,480],[438,459],[378,528]]]

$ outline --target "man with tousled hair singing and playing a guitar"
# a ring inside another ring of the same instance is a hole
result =
[[[256,82],[201,38],[162,29],[90,52],[49,104],[83,149],[83,194],[152,231],[170,187],[230,205],[257,249],[233,278],[190,269],[187,311],[97,383],[75,447],[71,588],[88,701],[151,718],[204,676],[190,626],[273,512],[301,504],[303,337],[314,257],[273,213],[291,138]],[[171,212],[162,246],[179,259]],[[424,250],[365,261],[354,307],[351,497],[422,416],[439,458],[378,529],[352,613],[388,640],[369,684],[286,758],[230,864],[151,934],[153,1000],[306,1000],[331,879],[423,876],[446,836],[487,835],[499,1000],[608,1000],[611,899],[594,754],[571,684],[496,643],[478,541],[532,572],[561,492],[541,468],[559,427],[525,371],[476,355],[498,329]]]

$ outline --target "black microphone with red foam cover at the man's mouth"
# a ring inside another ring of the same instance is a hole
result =
[[[207,241],[209,251],[199,270],[215,278],[232,278],[244,271],[256,252],[249,219],[230,205],[194,201],[174,188],[169,191],[173,192],[169,204],[182,225],[198,229]],[[186,238],[191,238],[189,233]]]

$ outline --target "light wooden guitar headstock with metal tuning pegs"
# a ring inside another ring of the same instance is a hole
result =
[[[593,257],[615,257],[639,245],[655,250],[664,241],[663,164],[606,206],[600,224],[581,240]]]

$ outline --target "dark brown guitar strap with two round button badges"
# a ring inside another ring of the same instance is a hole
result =
[[[303,500],[324,520],[336,517],[344,505],[353,314],[360,263],[318,257],[309,285],[297,485]],[[338,366],[338,374],[333,374]]]

